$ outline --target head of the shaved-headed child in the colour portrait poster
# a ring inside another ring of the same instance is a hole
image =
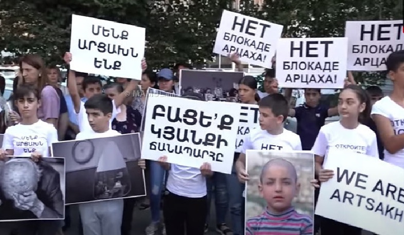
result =
[[[260,194],[267,202],[268,209],[273,212],[287,210],[299,192],[300,185],[289,168],[280,165],[268,166],[262,176]]]

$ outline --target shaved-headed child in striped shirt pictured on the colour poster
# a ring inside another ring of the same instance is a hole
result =
[[[267,162],[262,168],[258,187],[267,208],[259,216],[247,220],[246,235],[313,234],[313,220],[292,207],[292,200],[300,189],[295,166],[283,159]]]

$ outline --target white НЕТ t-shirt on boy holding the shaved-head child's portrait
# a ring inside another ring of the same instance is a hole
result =
[[[261,128],[255,128],[248,133],[244,139],[241,152],[246,154],[248,149],[253,150],[275,150],[290,151],[302,150],[302,142],[298,134],[283,129],[283,132],[277,135],[268,133]],[[245,190],[243,197],[245,198]]]

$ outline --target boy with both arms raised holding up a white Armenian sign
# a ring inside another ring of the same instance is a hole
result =
[[[64,61],[67,65],[70,64],[72,60],[72,55],[70,52],[66,52],[64,56]],[[146,62],[143,60],[142,61],[142,70],[146,70],[147,65]],[[140,78],[139,78],[140,80]],[[114,102],[113,102],[113,112],[111,116],[111,120],[109,120],[109,128],[112,128],[112,121],[116,118],[116,115],[120,113],[120,110],[117,109],[117,107],[121,106],[123,102],[126,99],[126,96],[128,94],[132,94],[134,90],[137,88],[138,81],[137,80],[132,80],[126,87],[124,92],[121,92],[118,96],[115,97]],[[86,131],[86,130],[91,130],[90,125],[88,124],[87,121],[87,114],[85,112],[84,108],[84,102],[81,101],[79,91],[77,88],[76,84],[76,73],[74,70],[69,70],[69,75],[67,79],[67,87],[69,89],[69,94],[71,96],[71,100],[73,102],[73,106],[75,108],[75,112],[77,114],[77,121],[79,124],[79,129],[80,132]],[[84,92],[84,97],[86,99],[89,99],[95,94],[100,94],[102,92],[102,85],[101,81],[98,77],[96,76],[86,76],[84,77],[83,83],[83,92]]]

